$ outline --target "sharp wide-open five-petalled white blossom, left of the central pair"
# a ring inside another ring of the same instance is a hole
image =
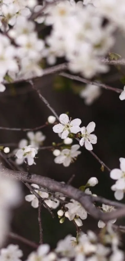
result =
[[[55,133],[62,133],[61,138],[66,139],[69,133],[78,133],[81,129],[79,125],[81,124],[80,119],[69,120],[67,114],[60,115],[60,123],[53,127]]]

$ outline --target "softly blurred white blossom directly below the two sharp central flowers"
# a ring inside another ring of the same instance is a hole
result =
[[[54,162],[57,164],[63,164],[65,167],[68,167],[71,162],[76,160],[76,157],[81,154],[81,151],[78,151],[79,145],[75,144],[71,146],[71,149],[64,149],[61,151],[60,155],[54,159]]]

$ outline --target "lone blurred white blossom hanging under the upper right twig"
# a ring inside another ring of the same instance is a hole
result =
[[[91,105],[101,94],[99,86],[87,84],[86,87],[80,91],[80,97],[85,99],[86,105]]]

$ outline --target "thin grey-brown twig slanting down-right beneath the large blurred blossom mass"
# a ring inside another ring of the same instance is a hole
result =
[[[74,80],[74,81],[83,82],[83,83],[86,83],[86,84],[96,85],[96,86],[102,87],[102,88],[104,88],[106,90],[109,90],[109,91],[115,91],[117,93],[121,93],[123,91],[121,89],[111,87],[111,86],[106,85],[104,83],[95,82],[95,81],[91,81],[91,80],[88,80],[88,79],[84,79],[82,77],[79,77],[79,76],[76,76],[76,75],[72,75],[72,74],[69,74],[69,73],[66,73],[66,72],[61,72],[61,73],[59,73],[59,75],[63,76],[63,77],[66,77],[66,78],[69,78],[69,79]]]

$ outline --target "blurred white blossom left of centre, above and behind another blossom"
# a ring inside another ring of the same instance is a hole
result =
[[[36,133],[29,131],[27,132],[27,137],[29,138],[29,145],[34,148],[38,148],[46,139],[46,136],[41,131],[37,131]]]

